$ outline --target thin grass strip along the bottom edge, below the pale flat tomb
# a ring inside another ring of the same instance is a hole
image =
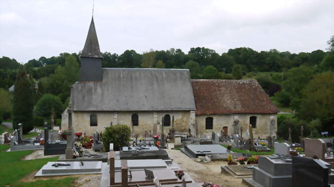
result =
[[[58,187],[58,186],[64,186],[64,187],[72,187],[74,186],[73,183],[77,178],[73,177],[67,177],[63,179],[51,179],[51,180],[36,180],[34,182],[20,182],[20,183],[14,183],[11,186],[12,187]]]

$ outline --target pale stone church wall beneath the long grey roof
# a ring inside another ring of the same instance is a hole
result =
[[[134,134],[143,136],[145,131],[154,134],[154,126],[156,126],[157,134],[161,132],[161,119],[165,114],[171,116],[171,127],[172,127],[172,116],[174,115],[174,127],[177,129],[185,129],[189,127],[190,122],[190,111],[118,111],[118,112],[95,112],[98,117],[98,126],[90,127],[89,115],[92,112],[78,112],[72,113],[73,116],[73,129],[75,132],[84,132],[88,135],[92,135],[96,130],[103,131],[105,127],[110,124],[126,124],[131,127],[131,116],[132,114],[138,114],[139,126],[134,126]],[[62,114],[62,129],[68,127],[68,115],[66,111]],[[164,127],[164,132],[169,132],[171,127]]]

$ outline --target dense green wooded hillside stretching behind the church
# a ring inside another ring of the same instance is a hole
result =
[[[134,50],[120,55],[104,52],[102,56],[104,68],[189,69],[191,78],[256,79],[277,107],[295,112],[293,117],[279,116],[279,136],[287,138],[288,127],[298,135],[301,126],[304,126],[305,135],[319,136],[323,131],[332,134],[334,36],[328,41],[327,51],[310,53],[295,54],[275,49],[258,52],[240,47],[218,54],[212,49],[196,47],[188,54],[172,48],[143,54]],[[19,119],[23,120],[25,114],[15,110],[24,106],[17,103],[18,100],[28,99],[31,102],[25,105],[31,105],[33,117],[27,123],[41,125],[51,114],[60,123],[61,113],[69,101],[70,86],[78,79],[79,72],[80,53],[42,56],[24,65],[3,56],[0,58],[0,121],[1,118],[13,119],[15,126]],[[9,92],[12,85],[15,90]],[[20,85],[30,89],[20,90]],[[21,98],[22,95],[27,96]]]

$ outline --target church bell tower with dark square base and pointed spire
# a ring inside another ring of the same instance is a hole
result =
[[[80,61],[79,82],[102,81],[102,53],[100,51],[93,17],[91,17],[86,43],[81,52]]]

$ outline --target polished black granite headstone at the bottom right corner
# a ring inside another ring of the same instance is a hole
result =
[[[292,157],[292,186],[328,187],[329,168],[319,159]]]

